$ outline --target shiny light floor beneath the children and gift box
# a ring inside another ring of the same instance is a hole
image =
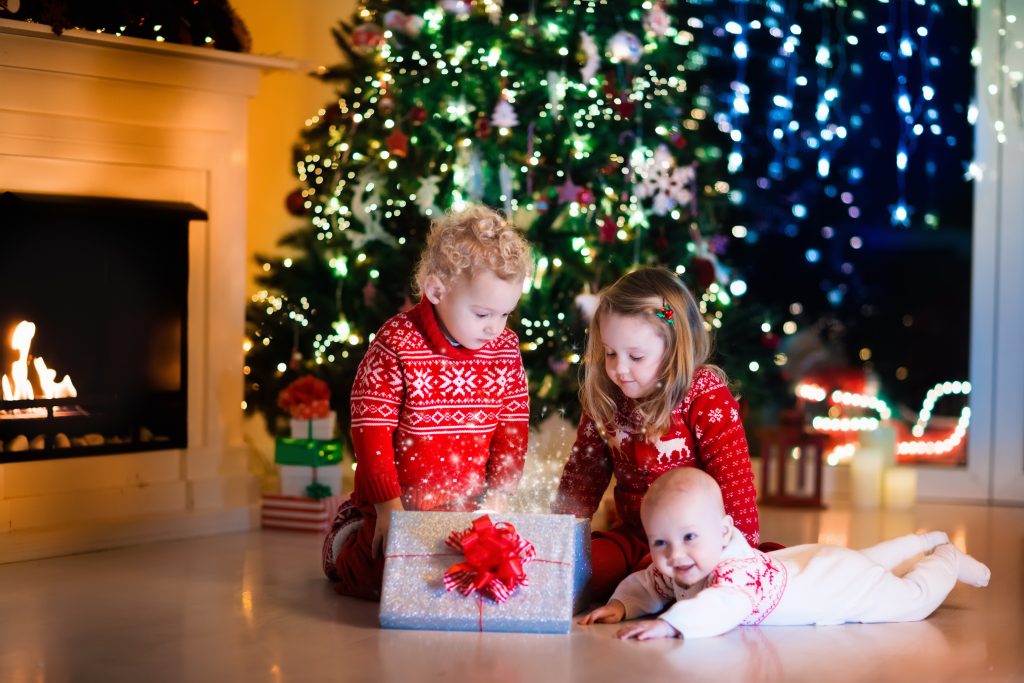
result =
[[[765,509],[766,539],[851,547],[942,528],[992,569],[925,622],[706,640],[384,631],[319,539],[254,531],[0,565],[0,681],[1024,681],[1024,508]]]

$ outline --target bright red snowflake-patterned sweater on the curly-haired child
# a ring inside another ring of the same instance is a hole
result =
[[[528,435],[526,373],[506,329],[486,346],[453,345],[423,300],[377,333],[352,383],[357,505],[473,509],[512,493]]]

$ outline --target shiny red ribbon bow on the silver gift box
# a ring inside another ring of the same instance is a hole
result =
[[[444,572],[444,588],[458,589],[463,595],[479,591],[495,602],[505,602],[519,586],[528,586],[522,565],[534,559],[534,544],[523,540],[515,526],[495,524],[483,515],[472,527],[452,531],[444,542],[463,553],[465,562],[453,564]]]

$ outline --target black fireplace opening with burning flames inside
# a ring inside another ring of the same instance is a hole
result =
[[[0,463],[187,440],[190,205],[0,194]]]

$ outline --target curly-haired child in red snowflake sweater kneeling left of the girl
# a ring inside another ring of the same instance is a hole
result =
[[[502,510],[522,476],[529,405],[505,327],[529,245],[482,207],[434,222],[419,304],[380,329],[352,383],[355,487],[324,540],[336,590],[380,599],[392,510]]]

